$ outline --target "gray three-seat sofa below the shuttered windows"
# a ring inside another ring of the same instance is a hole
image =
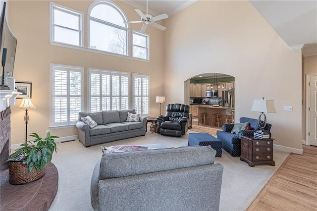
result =
[[[102,144],[110,141],[144,136],[146,132],[147,119],[140,116],[140,122],[127,122],[128,112],[136,113],[135,109],[130,110],[103,110],[100,112],[79,112],[78,139],[85,146]],[[82,122],[81,117],[90,116],[98,125],[90,128]]]

